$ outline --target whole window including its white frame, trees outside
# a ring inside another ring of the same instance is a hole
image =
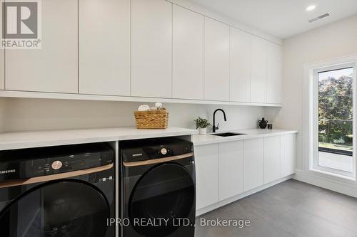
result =
[[[304,140],[311,172],[356,179],[356,60],[345,58],[308,68]]]

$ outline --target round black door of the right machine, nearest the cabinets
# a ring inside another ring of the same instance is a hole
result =
[[[160,164],[146,172],[131,193],[131,225],[143,236],[167,236],[180,227],[179,218],[188,218],[194,201],[195,188],[187,169]]]

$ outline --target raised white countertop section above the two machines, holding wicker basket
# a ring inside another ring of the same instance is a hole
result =
[[[0,133],[0,150],[92,142],[112,142],[154,137],[174,137],[194,135],[197,133],[197,130],[180,127],[169,127],[165,130],[138,130],[136,127],[113,127],[83,130],[4,132]]]

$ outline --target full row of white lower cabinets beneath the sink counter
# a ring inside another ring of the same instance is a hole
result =
[[[296,134],[195,146],[195,159],[196,209],[211,209],[295,173]]]

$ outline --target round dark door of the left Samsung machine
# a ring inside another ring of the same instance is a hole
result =
[[[83,181],[55,181],[30,189],[0,214],[1,236],[104,236],[109,205]]]

